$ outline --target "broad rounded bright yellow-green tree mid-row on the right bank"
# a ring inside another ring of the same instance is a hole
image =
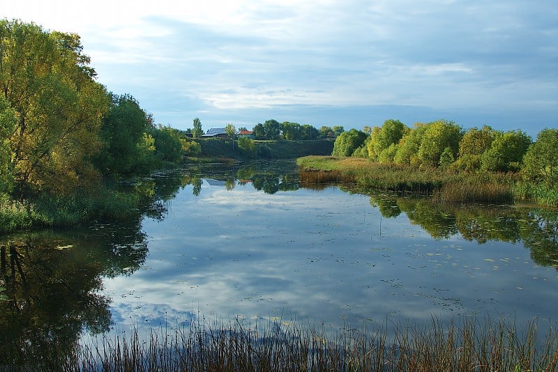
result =
[[[418,148],[418,160],[421,161],[421,164],[438,166],[440,156],[446,148],[448,148],[446,155],[451,155],[455,159],[461,137],[461,127],[453,121],[439,120],[430,123],[423,134],[421,146]],[[445,160],[447,160],[447,156]]]

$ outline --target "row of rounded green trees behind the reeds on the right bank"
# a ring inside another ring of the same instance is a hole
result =
[[[332,155],[455,171],[521,171],[531,180],[556,183],[557,151],[557,129],[542,130],[533,142],[521,130],[502,132],[486,125],[463,130],[446,120],[407,127],[390,119],[382,127],[341,133]]]

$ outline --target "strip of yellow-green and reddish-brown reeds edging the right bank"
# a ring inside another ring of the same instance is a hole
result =
[[[440,168],[380,164],[359,157],[307,156],[297,160],[301,183],[353,183],[362,189],[430,194],[445,203],[512,203],[517,176],[458,173]]]

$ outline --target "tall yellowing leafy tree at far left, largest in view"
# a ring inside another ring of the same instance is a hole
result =
[[[70,192],[98,177],[89,159],[108,108],[80,37],[0,20],[0,91],[17,113],[4,133],[14,187]]]

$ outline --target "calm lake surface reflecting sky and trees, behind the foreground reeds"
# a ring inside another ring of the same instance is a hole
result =
[[[304,187],[303,187],[304,186]],[[197,320],[340,327],[476,316],[554,324],[558,213],[301,185],[294,161],[129,180],[136,221],[2,237],[1,332]]]

